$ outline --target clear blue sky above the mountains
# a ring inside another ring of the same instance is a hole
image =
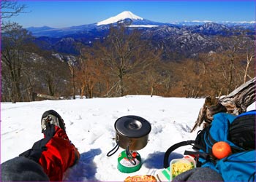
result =
[[[255,21],[255,1],[19,1],[29,13],[11,21],[30,26],[64,28],[97,23],[123,11],[148,20]]]

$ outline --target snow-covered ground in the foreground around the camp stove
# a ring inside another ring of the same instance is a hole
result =
[[[80,151],[78,165],[67,170],[64,181],[124,181],[130,175],[156,175],[163,167],[165,151],[174,143],[195,139],[190,133],[204,99],[161,98],[129,95],[122,98],[94,98],[77,100],[45,100],[31,103],[1,103],[1,163],[30,149],[42,138],[40,119],[49,109],[64,119],[67,135]],[[255,103],[248,110],[255,109]],[[138,151],[143,165],[135,173],[121,173],[117,169],[119,148],[113,149],[116,119],[137,115],[151,123],[149,141]],[[181,157],[183,148],[174,157]]]

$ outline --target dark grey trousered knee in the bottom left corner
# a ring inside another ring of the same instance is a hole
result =
[[[41,165],[26,157],[1,164],[1,181],[50,181]]]

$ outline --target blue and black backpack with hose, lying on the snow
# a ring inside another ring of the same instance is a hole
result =
[[[224,181],[255,181],[255,115],[255,110],[238,116],[215,114],[211,124],[197,133],[195,141],[183,141],[167,149],[164,167],[168,167],[172,151],[180,146],[192,145],[195,151],[185,151],[184,154],[197,156],[197,167],[216,170]],[[230,144],[230,156],[223,159],[214,157],[211,149],[219,141]]]

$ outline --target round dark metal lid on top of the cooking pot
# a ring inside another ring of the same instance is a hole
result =
[[[151,124],[140,116],[122,116],[116,120],[116,132],[129,138],[140,138],[148,135]]]

